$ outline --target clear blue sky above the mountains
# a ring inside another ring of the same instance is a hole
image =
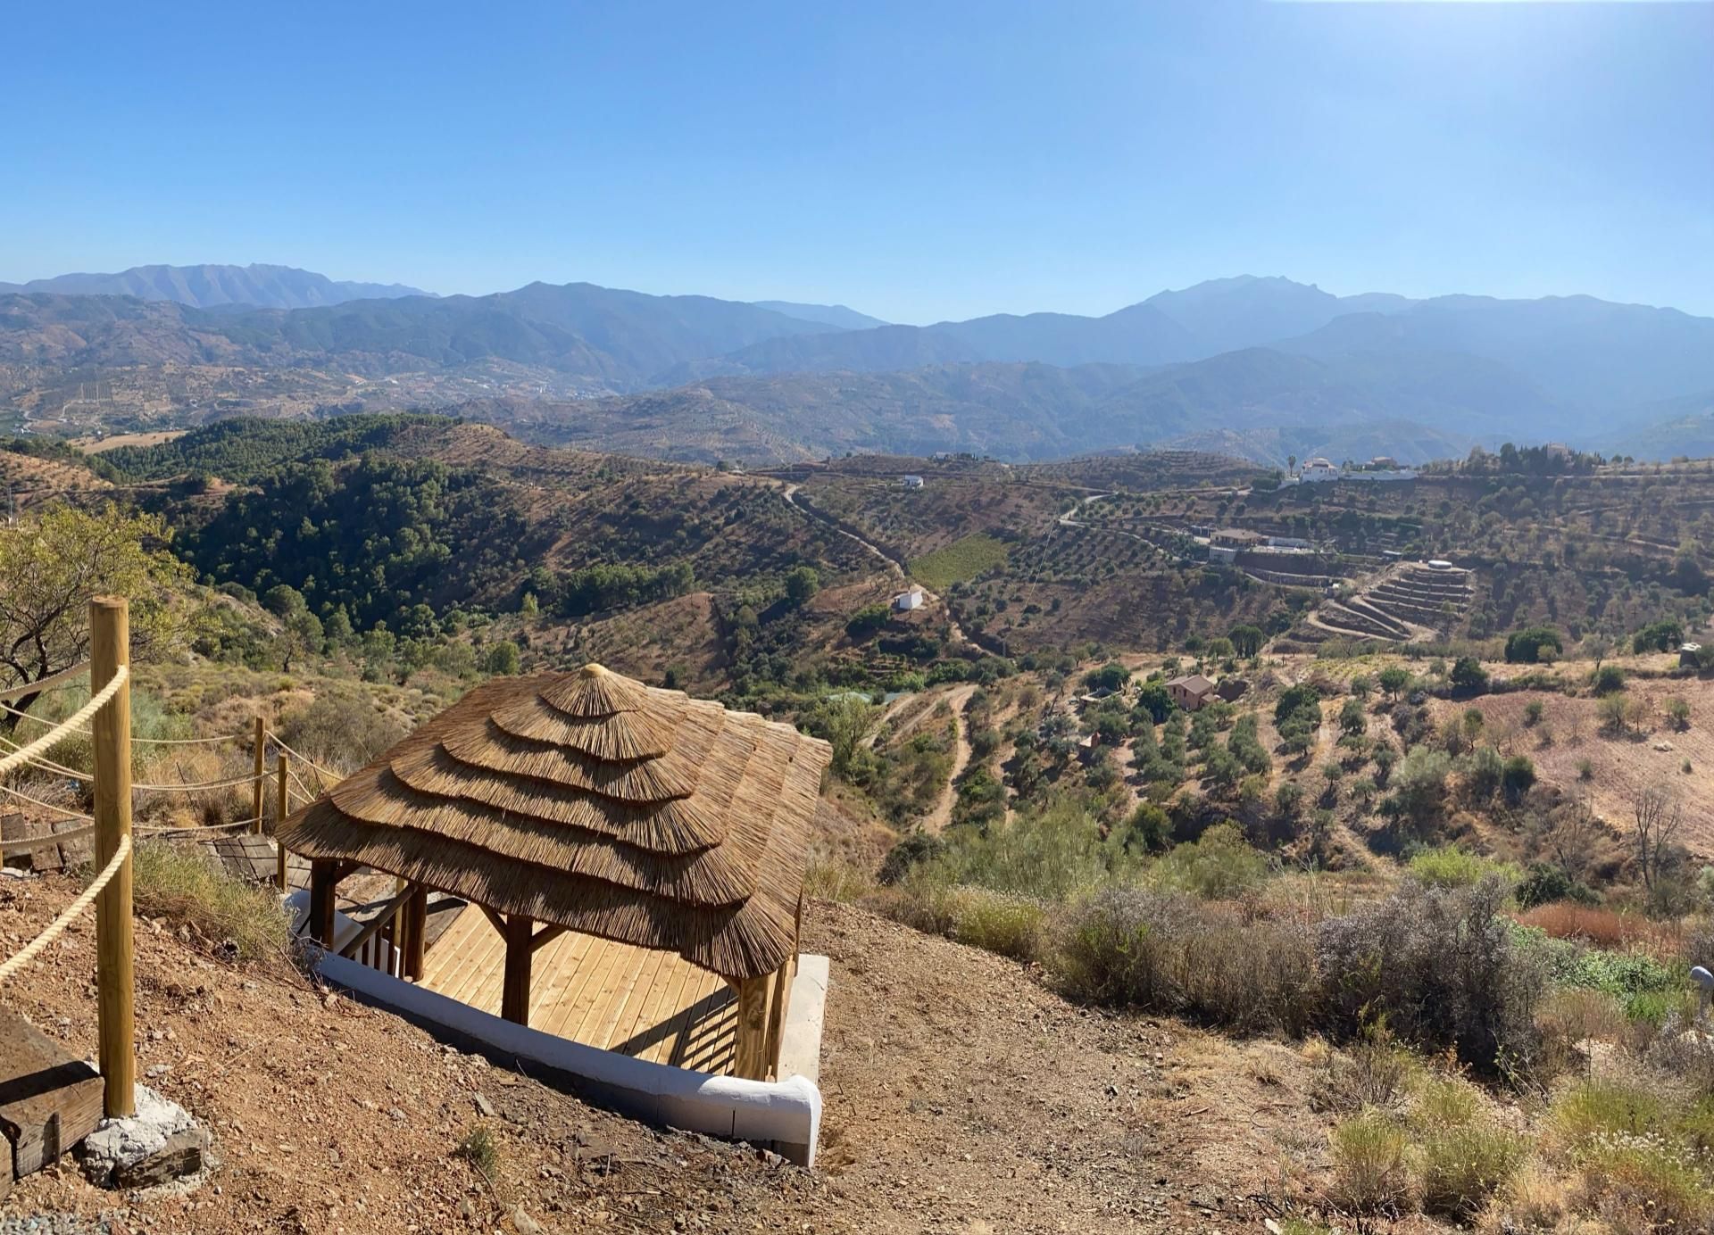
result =
[[[1714,313],[1714,3],[19,5],[0,279]]]

